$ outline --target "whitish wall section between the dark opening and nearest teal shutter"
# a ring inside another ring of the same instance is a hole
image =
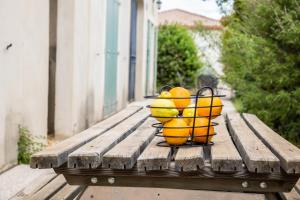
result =
[[[55,136],[66,138],[102,119],[106,3],[58,4]]]

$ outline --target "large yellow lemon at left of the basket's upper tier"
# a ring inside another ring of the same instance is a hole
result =
[[[162,123],[170,121],[172,117],[176,117],[179,113],[174,102],[169,99],[154,100],[151,104],[150,111],[151,115]]]

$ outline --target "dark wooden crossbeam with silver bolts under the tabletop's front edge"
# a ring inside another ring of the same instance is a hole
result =
[[[194,173],[194,176],[184,176],[184,173],[180,173],[178,176],[166,175],[168,170],[161,170],[162,175],[158,175],[157,171],[146,171],[149,176],[135,176],[124,175],[123,173],[117,174],[81,174],[71,173],[66,175],[68,183],[71,185],[88,185],[88,186],[109,186],[109,187],[156,187],[156,188],[173,188],[173,189],[185,189],[185,190],[213,190],[213,191],[232,191],[232,192],[287,192],[292,188],[290,182],[282,180],[267,180],[263,176],[261,178],[236,178],[233,176],[215,177],[214,174],[207,174],[207,177],[198,176],[198,172]],[[126,170],[127,171],[127,170]],[[262,175],[262,174],[259,174]],[[108,179],[114,177],[115,182],[111,184]],[[91,178],[97,178],[98,182],[91,182]],[[247,182],[247,187],[243,187],[242,183]],[[260,184],[265,182],[267,187],[260,187]]]

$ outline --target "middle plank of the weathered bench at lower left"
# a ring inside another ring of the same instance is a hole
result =
[[[53,179],[50,183],[45,185],[38,192],[34,193],[32,196],[25,198],[26,200],[36,200],[36,199],[48,199],[53,196],[58,190],[67,184],[63,175],[59,175],[57,178]]]

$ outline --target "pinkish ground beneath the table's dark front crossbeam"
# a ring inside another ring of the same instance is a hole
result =
[[[88,187],[80,200],[265,200],[263,194],[162,188]]]

